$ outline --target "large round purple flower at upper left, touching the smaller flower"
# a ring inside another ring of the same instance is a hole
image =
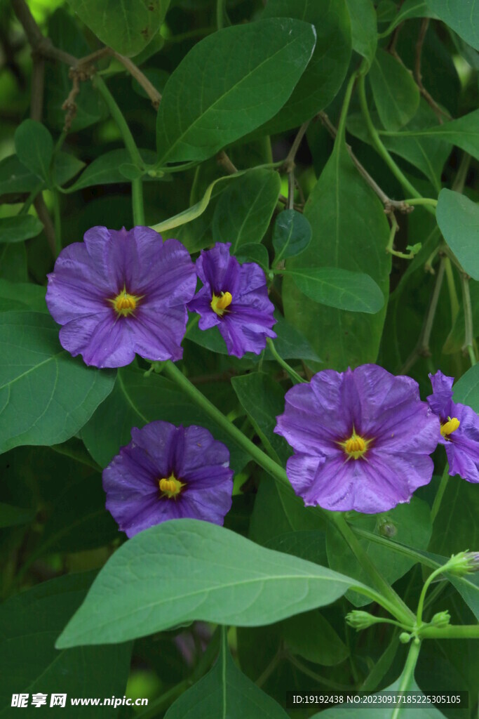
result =
[[[92,227],[62,249],[48,275],[47,306],[60,343],[87,365],[124,367],[135,352],[180,359],[195,268],[176,239],[149,227]]]

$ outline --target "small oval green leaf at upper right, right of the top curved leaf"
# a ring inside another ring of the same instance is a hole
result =
[[[419,107],[419,88],[414,78],[390,52],[378,49],[369,79],[383,126],[387,130],[399,130]]]

